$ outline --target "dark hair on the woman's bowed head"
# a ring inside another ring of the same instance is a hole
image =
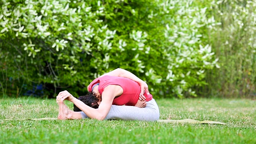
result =
[[[99,101],[99,96],[95,94],[95,92],[89,92],[85,96],[79,96],[78,100],[81,100],[86,104],[87,106],[90,106],[92,108],[98,108],[99,104],[97,103]],[[74,104],[74,112],[81,112],[75,104]]]

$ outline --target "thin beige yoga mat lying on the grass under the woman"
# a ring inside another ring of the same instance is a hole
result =
[[[57,118],[22,118],[22,119],[4,119],[4,120],[57,120]],[[184,119],[184,120],[158,120],[157,122],[165,122],[172,124],[225,124],[223,122],[216,122],[211,120],[192,120],[192,119]]]

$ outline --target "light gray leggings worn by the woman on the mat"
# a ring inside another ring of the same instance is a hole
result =
[[[145,108],[135,106],[112,105],[105,120],[145,120],[154,121],[159,119],[159,108],[154,99],[146,102]],[[84,112],[80,112],[82,118],[88,118]]]

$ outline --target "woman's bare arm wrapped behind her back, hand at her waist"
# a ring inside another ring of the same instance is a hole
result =
[[[140,99],[141,100],[146,100],[146,97],[143,95],[144,91],[146,90],[146,93],[149,94],[148,91],[148,85],[146,84],[146,82],[144,82],[143,80],[141,80],[140,78],[138,78],[137,76],[135,76],[134,74],[132,74],[131,72],[124,70],[122,68],[117,68],[111,72],[108,72],[106,74],[103,74],[102,76],[119,76],[119,77],[123,77],[123,78],[129,78],[135,82],[137,82],[138,84],[140,84]],[[101,77],[101,76],[100,76]]]

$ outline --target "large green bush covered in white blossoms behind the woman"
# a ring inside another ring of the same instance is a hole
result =
[[[155,98],[196,96],[219,67],[208,42],[220,23],[200,1],[2,0],[2,92],[43,84],[44,96],[86,92],[97,76],[124,68]],[[33,93],[34,94],[34,93]]]

